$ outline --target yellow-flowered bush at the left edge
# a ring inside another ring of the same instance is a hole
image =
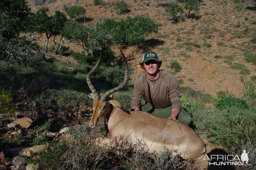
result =
[[[18,107],[12,103],[12,89],[0,89],[0,114],[12,116]]]

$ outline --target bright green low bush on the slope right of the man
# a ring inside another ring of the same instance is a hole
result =
[[[247,108],[246,102],[241,98],[236,98],[233,96],[221,96],[220,99],[216,100],[215,107],[222,110],[229,107],[238,107],[240,109]]]

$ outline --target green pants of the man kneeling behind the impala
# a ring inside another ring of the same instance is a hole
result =
[[[172,106],[169,106],[163,109],[158,109],[158,108],[153,108],[150,104],[146,103],[145,105],[140,107],[140,110],[142,110],[143,112],[152,113],[155,116],[159,116],[167,119],[171,116]],[[179,122],[188,126],[191,123],[190,115],[183,109],[180,110],[180,113],[178,114],[176,119]]]

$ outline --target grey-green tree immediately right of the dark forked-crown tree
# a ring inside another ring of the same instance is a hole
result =
[[[73,42],[78,43],[81,45],[88,54],[89,51],[89,32],[91,28],[84,26],[76,21],[68,20],[65,25],[62,32],[62,35]]]

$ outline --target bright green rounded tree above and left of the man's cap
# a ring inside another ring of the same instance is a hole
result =
[[[158,32],[158,24],[155,20],[151,19],[146,15],[138,15],[134,18],[126,18],[126,37],[125,41],[127,45],[138,44],[145,40],[145,38],[152,32]]]

